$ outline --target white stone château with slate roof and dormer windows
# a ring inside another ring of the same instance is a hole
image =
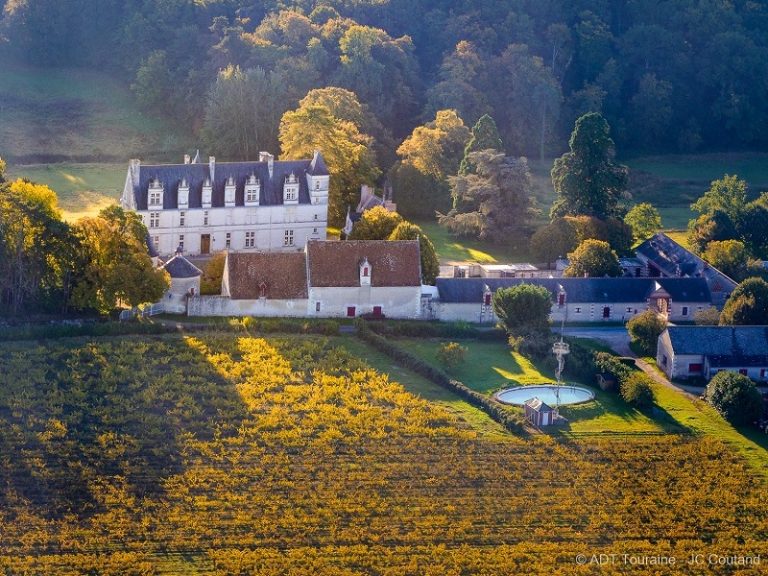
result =
[[[120,204],[138,213],[161,256],[229,251],[297,251],[324,240],[328,168],[311,160],[183,164],[131,160]]]

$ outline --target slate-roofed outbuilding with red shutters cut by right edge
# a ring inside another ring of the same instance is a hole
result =
[[[768,326],[670,326],[659,336],[656,363],[669,378],[720,370],[768,380]]]

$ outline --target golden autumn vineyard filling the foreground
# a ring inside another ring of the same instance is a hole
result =
[[[768,558],[765,486],[716,440],[487,436],[358,356],[215,333],[5,344],[0,573],[648,573],[576,561],[628,553],[719,574],[684,560]]]

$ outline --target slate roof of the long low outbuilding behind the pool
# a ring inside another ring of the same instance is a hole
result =
[[[703,278],[438,278],[440,300],[448,303],[479,303],[485,287],[495,292],[520,284],[544,286],[555,300],[560,286],[568,302],[606,303],[645,302],[654,292],[656,282],[666,290],[673,303],[710,302]]]

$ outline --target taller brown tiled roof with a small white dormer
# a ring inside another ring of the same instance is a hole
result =
[[[372,286],[421,286],[418,240],[316,240],[307,244],[307,253],[313,287],[359,286],[366,258]]]

